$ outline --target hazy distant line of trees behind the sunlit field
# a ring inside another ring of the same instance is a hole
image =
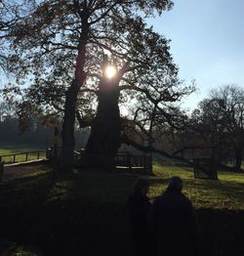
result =
[[[56,125],[55,122],[42,123],[38,119],[32,119],[31,126],[21,133],[20,118],[14,108],[9,106],[8,102],[0,103],[1,143],[27,144],[46,148],[58,142],[61,146],[61,135],[55,138],[54,132],[55,127],[61,131],[61,125]],[[141,114],[141,118],[142,116]],[[242,171],[244,155],[244,90],[242,87],[226,85],[213,90],[196,109],[189,114],[184,113],[182,119],[175,121],[175,125],[160,124],[159,120],[162,116],[159,113],[150,117],[153,125],[147,129],[140,129],[136,122],[129,123],[129,126],[126,121],[125,125],[124,117],[121,117],[124,132],[129,140],[128,146],[133,146],[134,149],[144,153],[158,153],[188,163],[192,163],[194,157],[210,157],[227,170]],[[83,122],[84,127],[78,130],[78,125],[81,123],[82,121],[77,121],[75,129],[76,149],[86,147],[91,131],[89,128],[91,122],[87,125]],[[123,149],[135,152],[125,145]],[[229,162],[232,167],[229,166]]]

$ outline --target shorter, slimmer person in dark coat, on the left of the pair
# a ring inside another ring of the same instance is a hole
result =
[[[151,255],[152,246],[147,227],[148,212],[151,206],[147,197],[148,189],[149,183],[140,179],[128,199],[132,256]]]

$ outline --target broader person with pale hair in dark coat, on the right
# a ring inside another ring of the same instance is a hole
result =
[[[172,177],[167,191],[155,199],[149,211],[148,227],[157,243],[157,256],[202,255],[199,224],[182,189],[182,179]]]

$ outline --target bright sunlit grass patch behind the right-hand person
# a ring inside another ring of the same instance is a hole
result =
[[[165,190],[172,175],[183,178],[183,192],[196,208],[244,210],[244,174],[219,172],[219,180],[193,179],[192,168],[154,166],[150,197]]]

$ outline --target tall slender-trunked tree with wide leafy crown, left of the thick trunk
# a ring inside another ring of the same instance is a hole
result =
[[[29,84],[22,101],[35,106],[35,115],[63,115],[64,170],[70,170],[72,164],[75,113],[81,126],[95,115],[104,53],[118,69],[126,66],[117,85],[120,105],[139,103],[137,108],[129,106],[133,108],[131,117],[149,114],[153,107],[152,116],[161,113],[171,122],[170,116],[178,112],[171,104],[191,92],[178,79],[169,41],[142,20],[142,15],[150,17],[171,9],[172,1],[23,2],[31,8],[20,9],[21,19],[9,30],[9,70],[16,74],[17,82]],[[140,121],[146,130],[151,117],[138,117],[134,121]]]

